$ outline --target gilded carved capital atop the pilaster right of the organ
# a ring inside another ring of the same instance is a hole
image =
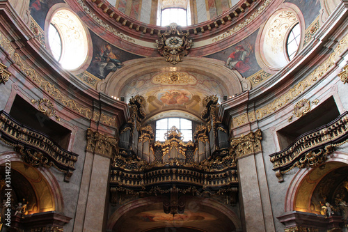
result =
[[[261,140],[262,133],[260,129],[241,137],[232,138],[230,140],[230,156],[239,158],[261,152]]]

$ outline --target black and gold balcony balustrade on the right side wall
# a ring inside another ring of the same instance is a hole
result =
[[[315,167],[325,162],[335,148],[348,141],[348,112],[329,124],[302,134],[290,146],[269,155],[279,182],[294,167]]]

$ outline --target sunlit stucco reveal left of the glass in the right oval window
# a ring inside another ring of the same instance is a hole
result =
[[[274,54],[278,54],[279,51],[283,50],[283,41],[287,35],[287,30],[297,21],[294,12],[283,11],[274,18],[274,21],[269,25],[265,40],[267,45],[271,46],[271,50]]]

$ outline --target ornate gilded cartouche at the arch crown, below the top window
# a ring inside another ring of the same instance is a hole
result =
[[[177,29],[177,24],[171,23],[168,29],[158,33],[159,39],[156,40],[156,46],[159,54],[166,57],[166,62],[174,65],[182,62],[182,58],[189,54],[192,40],[189,39],[189,32],[184,33]]]

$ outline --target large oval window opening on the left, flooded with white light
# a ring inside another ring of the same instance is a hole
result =
[[[86,61],[88,40],[77,15],[67,9],[58,10],[49,23],[49,50],[67,70],[76,70]]]

